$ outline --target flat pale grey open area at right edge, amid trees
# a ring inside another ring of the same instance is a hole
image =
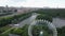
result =
[[[65,19],[63,19],[63,18],[53,18],[52,23],[53,23],[56,28],[62,28],[62,26],[65,26]]]

